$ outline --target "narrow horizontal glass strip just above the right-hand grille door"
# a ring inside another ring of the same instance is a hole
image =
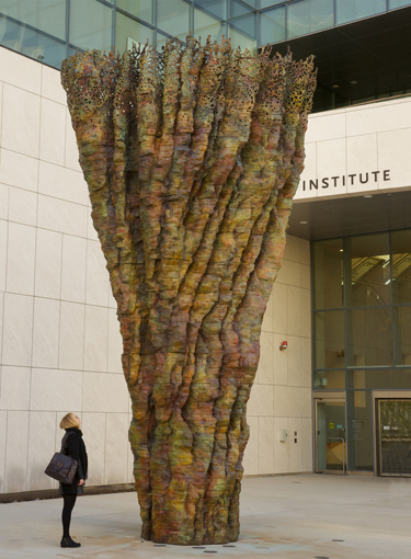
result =
[[[349,369],[347,388],[356,389],[407,389],[411,388],[411,369],[409,368],[366,368]]]

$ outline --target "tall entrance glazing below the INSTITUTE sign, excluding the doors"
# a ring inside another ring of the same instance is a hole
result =
[[[372,390],[411,389],[411,230],[312,243],[313,389],[345,390],[347,468],[373,470]]]

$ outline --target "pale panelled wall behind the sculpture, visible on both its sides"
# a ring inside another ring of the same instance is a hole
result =
[[[0,68],[0,493],[56,487],[43,471],[68,411],[82,419],[89,484],[129,482],[115,301],[59,72],[1,47]],[[309,247],[289,238],[263,326],[246,474],[311,469],[309,320]]]

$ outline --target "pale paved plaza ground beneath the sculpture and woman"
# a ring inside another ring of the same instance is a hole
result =
[[[0,504],[0,558],[205,557],[409,559],[411,479],[299,475],[243,480],[241,537],[229,546],[156,546],[139,537],[135,493],[79,498],[61,549],[61,500]]]

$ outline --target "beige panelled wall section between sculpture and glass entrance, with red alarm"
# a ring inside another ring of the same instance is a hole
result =
[[[264,317],[260,366],[248,403],[246,475],[312,471],[310,317],[309,242],[288,237]],[[279,351],[283,341],[288,349]],[[283,430],[286,442],[279,442]]]

